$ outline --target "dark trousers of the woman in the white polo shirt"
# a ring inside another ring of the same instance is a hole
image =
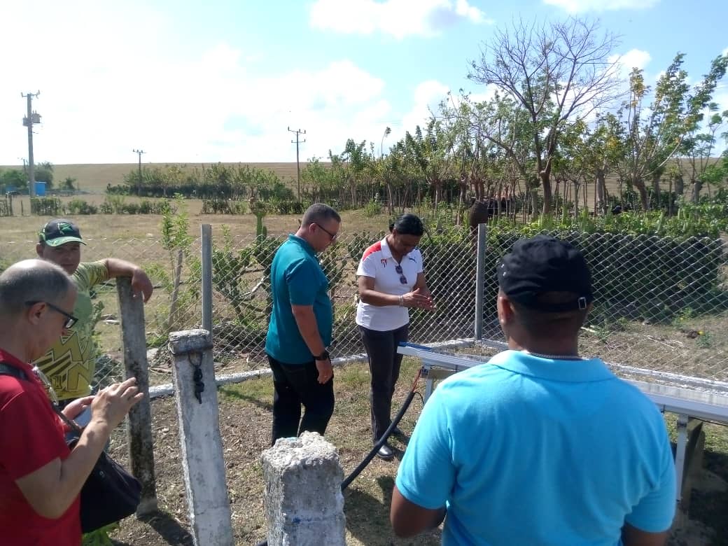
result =
[[[407,341],[409,325],[397,330],[379,332],[359,327],[364,348],[369,358],[371,373],[371,432],[374,443],[392,423],[392,395],[400,377],[402,355],[397,353],[400,341]]]

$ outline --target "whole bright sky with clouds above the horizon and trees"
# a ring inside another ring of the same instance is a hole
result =
[[[295,161],[289,126],[306,130],[301,159],[347,138],[386,151],[448,90],[487,96],[467,72],[496,28],[570,15],[621,35],[624,73],[649,82],[678,51],[693,81],[728,51],[724,0],[6,1],[0,165],[28,155],[20,92],[37,90],[34,155],[58,165],[132,163],[132,149],[144,162]],[[728,108],[728,79],[715,99]]]

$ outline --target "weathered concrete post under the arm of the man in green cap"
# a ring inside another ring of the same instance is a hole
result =
[[[116,279],[119,314],[122,321],[124,349],[124,378],[135,377],[144,397],[131,408],[127,420],[127,442],[132,473],[141,482],[141,502],[137,515],[157,511],[157,486],[154,478],[154,440],[151,435],[151,404],[149,402],[149,369],[146,362],[146,333],[144,304],[141,296],[134,297],[129,277]]]

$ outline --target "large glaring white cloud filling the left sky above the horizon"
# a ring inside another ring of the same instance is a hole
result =
[[[294,161],[289,126],[306,130],[301,159],[339,153],[347,138],[374,142],[379,152],[389,126],[386,151],[405,130],[424,125],[428,107],[447,92],[424,82],[401,96],[345,58],[264,73],[261,48],[220,42],[180,53],[185,37],[151,7],[77,0],[69,13],[48,1],[33,20],[44,39],[26,41],[28,8],[18,5],[4,9],[0,33],[4,71],[12,74],[0,79],[0,165],[20,165],[28,155],[20,92],[41,91],[33,101],[42,116],[34,155],[59,165],[131,164],[132,149],[146,151],[143,162]],[[68,25],[59,30],[60,20]],[[404,105],[398,110],[395,93]]]

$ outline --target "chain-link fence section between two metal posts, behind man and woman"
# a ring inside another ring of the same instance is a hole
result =
[[[329,280],[335,357],[364,352],[355,323],[355,272],[366,248],[384,234],[344,234],[320,254]],[[245,361],[248,368],[267,366],[264,354],[268,328],[269,268],[282,238],[231,237],[213,248],[213,333],[215,362]],[[410,339],[416,343],[472,337],[475,317],[475,250],[467,235],[450,240],[424,238],[420,248],[427,282],[438,308],[410,310]],[[240,365],[239,365],[240,367]]]

